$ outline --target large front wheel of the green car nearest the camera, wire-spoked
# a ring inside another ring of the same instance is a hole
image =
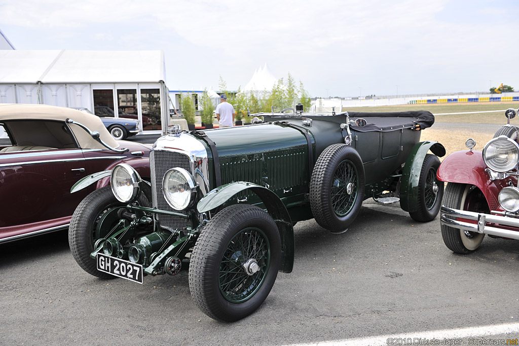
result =
[[[258,239],[262,240],[261,244]],[[245,248],[245,242],[251,240],[254,246]],[[260,250],[253,251],[256,246]],[[260,270],[249,275],[243,264],[251,259],[257,261]],[[193,248],[189,264],[193,300],[212,319],[226,322],[242,319],[267,298],[280,261],[281,240],[272,217],[257,206],[230,205],[203,226]]]

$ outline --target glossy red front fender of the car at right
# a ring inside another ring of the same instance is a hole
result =
[[[498,210],[497,196],[510,178],[492,181],[485,169],[481,151],[456,151],[447,156],[436,173],[438,180],[446,183],[471,184],[479,188],[487,200],[490,210]]]

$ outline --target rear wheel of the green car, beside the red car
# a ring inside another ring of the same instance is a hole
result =
[[[418,181],[418,210],[409,213],[413,220],[429,222],[434,220],[440,211],[444,183],[436,179],[438,167],[440,167],[438,156],[427,154]]]

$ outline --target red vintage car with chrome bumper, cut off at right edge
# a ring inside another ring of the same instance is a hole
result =
[[[472,150],[447,156],[437,177],[447,182],[441,207],[441,230],[445,245],[458,254],[468,254],[491,238],[519,239],[518,129],[510,124],[517,112],[505,112],[502,126],[483,151]]]

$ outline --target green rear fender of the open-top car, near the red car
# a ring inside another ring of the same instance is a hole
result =
[[[436,156],[445,155],[445,148],[438,142],[425,141],[415,144],[405,161],[400,184],[400,207],[410,213],[418,210],[418,183],[420,172],[427,152],[431,150]]]

